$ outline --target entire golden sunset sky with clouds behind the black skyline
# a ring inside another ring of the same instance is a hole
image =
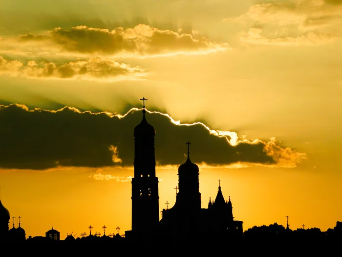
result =
[[[333,228],[341,46],[342,0],[0,0],[1,202],[26,236],[130,230],[146,97],[160,210],[190,141],[203,208],[220,180],[244,230]]]

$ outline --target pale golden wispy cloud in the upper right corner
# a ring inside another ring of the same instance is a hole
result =
[[[318,46],[341,38],[341,17],[340,0],[278,0],[254,4],[233,20],[250,27],[240,38],[245,43]]]

